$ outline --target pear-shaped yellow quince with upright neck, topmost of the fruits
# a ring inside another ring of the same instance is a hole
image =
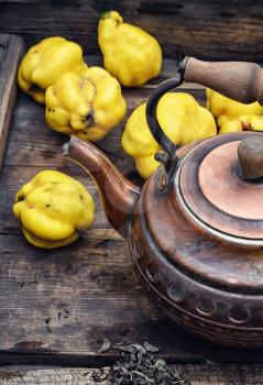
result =
[[[105,68],[123,86],[141,86],[158,75],[162,67],[158,42],[140,28],[124,23],[120,13],[102,14],[98,41]]]

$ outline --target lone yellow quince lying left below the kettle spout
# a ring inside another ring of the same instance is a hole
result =
[[[13,206],[26,240],[43,249],[76,241],[79,231],[94,222],[94,211],[95,205],[87,189],[56,170],[36,174],[19,190]]]

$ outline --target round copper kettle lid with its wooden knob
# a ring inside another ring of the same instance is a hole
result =
[[[226,241],[263,245],[263,134],[198,144],[180,162],[174,194],[196,224]]]

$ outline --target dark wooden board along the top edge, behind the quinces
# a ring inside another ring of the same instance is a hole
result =
[[[63,35],[95,54],[98,19],[109,9],[155,35],[165,56],[174,56],[182,46],[199,57],[262,61],[262,1],[0,0],[0,32],[22,35],[26,46]]]

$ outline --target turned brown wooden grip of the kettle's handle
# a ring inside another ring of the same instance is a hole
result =
[[[242,103],[259,101],[263,106],[263,69],[245,62],[201,62],[188,57],[184,80],[209,87]]]

